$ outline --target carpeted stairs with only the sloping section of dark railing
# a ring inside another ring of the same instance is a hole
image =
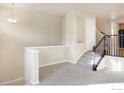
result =
[[[106,52],[106,36],[105,33],[100,32],[103,37],[99,40],[96,46],[93,47],[93,50],[87,51],[80,57],[78,64],[92,69],[93,71],[97,70],[97,67],[105,55]]]

